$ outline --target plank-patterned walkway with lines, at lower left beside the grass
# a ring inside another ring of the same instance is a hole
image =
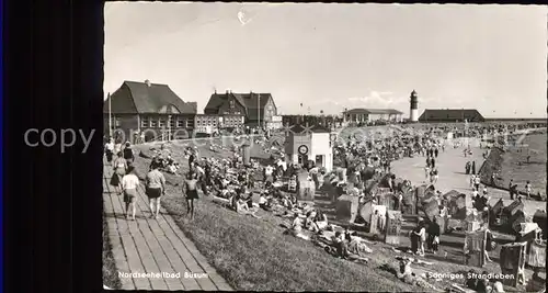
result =
[[[136,221],[126,221],[123,195],[109,184],[112,173],[111,166],[103,167],[104,212],[118,272],[181,274],[180,278],[121,275],[123,290],[232,291],[163,209],[158,219],[149,218],[142,185],[138,189]]]

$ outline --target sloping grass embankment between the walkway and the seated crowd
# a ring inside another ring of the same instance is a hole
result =
[[[139,177],[148,165],[148,159],[137,158]],[[189,222],[176,183],[168,184],[162,206],[236,290],[423,291],[377,267],[335,259],[310,241],[284,235],[284,221],[270,213],[260,213],[261,219],[242,216],[202,198]]]

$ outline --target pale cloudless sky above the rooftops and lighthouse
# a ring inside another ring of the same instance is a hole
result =
[[[105,4],[104,94],[168,84],[203,112],[212,93],[270,92],[282,114],[424,109],[546,117],[540,5]],[[302,106],[300,106],[302,103]]]

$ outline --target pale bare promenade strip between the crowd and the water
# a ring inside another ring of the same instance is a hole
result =
[[[436,159],[436,167],[439,171],[439,179],[437,181],[436,189],[442,191],[442,193],[449,192],[452,190],[459,191],[467,195],[467,204],[471,207],[471,187],[470,177],[465,173],[465,165],[467,161],[476,161],[476,170],[479,170],[483,164],[482,153],[484,149],[479,147],[473,147],[475,145],[470,143],[472,147],[472,155],[465,157],[463,154],[463,147],[453,148],[453,146],[446,146],[445,151],[439,151]],[[400,160],[392,161],[392,172],[403,179],[411,180],[412,184],[419,185],[425,182],[424,166],[426,165],[426,157],[415,156],[414,158],[403,158]],[[510,200],[510,194],[507,191],[502,191],[499,189],[488,188],[489,195],[491,196],[490,204],[494,205],[499,199],[503,199],[504,205],[512,203]],[[533,216],[537,209],[546,209],[545,202],[539,201],[527,201],[524,202],[524,212],[527,216]]]

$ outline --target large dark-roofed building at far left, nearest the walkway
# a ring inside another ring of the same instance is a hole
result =
[[[134,143],[187,137],[196,113],[196,102],[184,102],[168,84],[149,80],[124,81],[103,106],[105,133],[111,125],[113,136]]]

